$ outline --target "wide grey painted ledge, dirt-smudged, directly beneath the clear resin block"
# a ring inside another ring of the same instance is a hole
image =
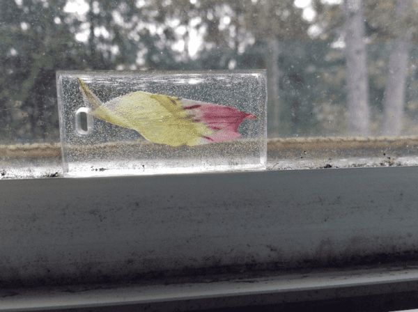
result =
[[[417,185],[416,166],[1,180],[0,286],[414,260]]]

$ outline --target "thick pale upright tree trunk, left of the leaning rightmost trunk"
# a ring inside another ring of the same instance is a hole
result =
[[[343,10],[346,16],[348,118],[351,134],[366,137],[369,135],[370,107],[362,6],[362,0],[345,0]]]

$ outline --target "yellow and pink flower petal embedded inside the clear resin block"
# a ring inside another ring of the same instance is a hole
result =
[[[78,78],[79,79],[79,78]],[[102,104],[79,79],[91,115],[137,130],[145,139],[169,146],[197,146],[240,137],[245,119],[258,119],[233,107],[137,91]]]

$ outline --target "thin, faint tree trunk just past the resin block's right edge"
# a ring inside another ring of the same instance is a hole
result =
[[[277,38],[268,39],[268,49],[266,56],[267,83],[268,83],[268,104],[272,107],[272,137],[279,136],[279,40]]]

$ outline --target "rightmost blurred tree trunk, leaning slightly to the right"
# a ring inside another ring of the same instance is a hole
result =
[[[396,15],[401,18],[410,0],[399,0]],[[403,107],[405,104],[405,84],[408,73],[410,40],[412,30],[392,42],[389,57],[389,77],[385,92],[385,119],[382,134],[398,136],[402,131]]]

